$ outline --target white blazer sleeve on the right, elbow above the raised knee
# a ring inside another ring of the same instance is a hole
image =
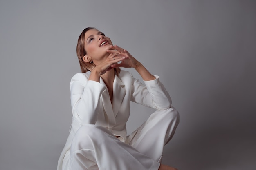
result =
[[[159,76],[154,76],[156,79],[144,81],[145,85],[133,78],[131,101],[157,110],[170,108],[171,97],[160,82]]]

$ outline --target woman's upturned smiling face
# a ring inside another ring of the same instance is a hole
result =
[[[90,29],[85,33],[84,49],[86,56],[91,57],[95,65],[98,62],[108,57],[107,49],[109,49],[112,42],[110,38],[97,29]]]

